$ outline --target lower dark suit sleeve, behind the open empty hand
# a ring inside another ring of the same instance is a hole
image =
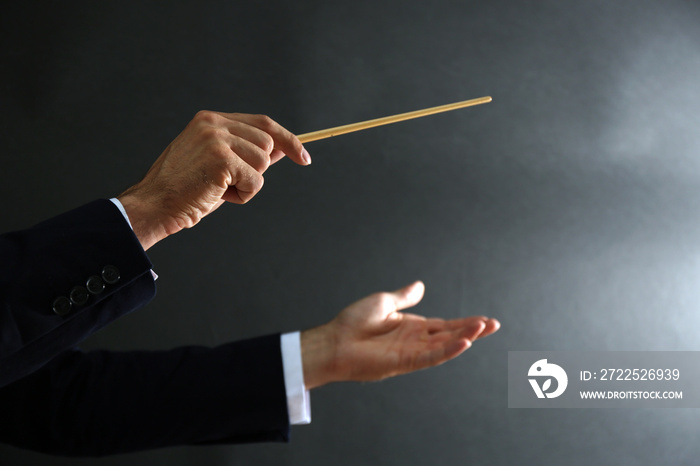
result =
[[[0,441],[102,456],[289,438],[279,335],[217,348],[61,354],[0,389]]]

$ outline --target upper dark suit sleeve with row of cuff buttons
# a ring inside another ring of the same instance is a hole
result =
[[[155,295],[151,263],[108,200],[0,235],[0,258],[0,387]]]

